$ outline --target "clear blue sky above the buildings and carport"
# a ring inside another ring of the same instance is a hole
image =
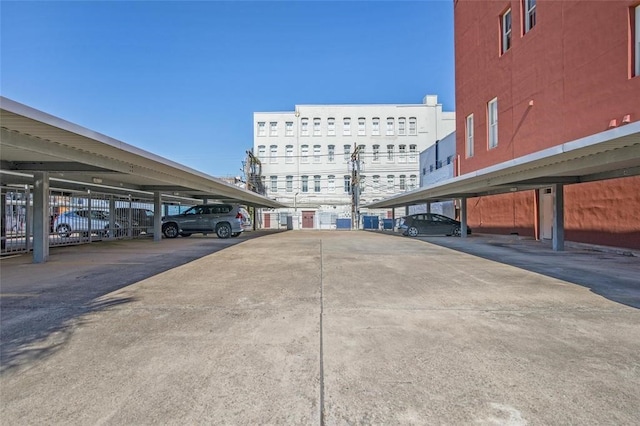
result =
[[[0,8],[2,96],[213,176],[241,174],[253,112],[455,109],[451,0]]]

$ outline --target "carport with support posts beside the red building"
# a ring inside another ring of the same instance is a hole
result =
[[[468,198],[552,187],[555,192],[552,246],[554,250],[562,251],[564,185],[636,175],[640,175],[640,122],[576,139],[364,207],[393,208],[459,199],[462,237],[466,237]]]

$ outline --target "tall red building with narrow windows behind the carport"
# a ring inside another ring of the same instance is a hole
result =
[[[454,16],[459,175],[640,121],[640,1],[454,0]],[[566,240],[640,249],[637,169],[564,185]],[[550,238],[554,191],[468,198],[468,224]]]

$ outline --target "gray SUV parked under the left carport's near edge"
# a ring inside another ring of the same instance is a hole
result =
[[[229,238],[239,236],[242,231],[242,213],[233,204],[201,204],[162,218],[162,233],[167,238],[214,232],[218,238]]]

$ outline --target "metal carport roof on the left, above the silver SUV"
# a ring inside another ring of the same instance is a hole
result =
[[[163,199],[282,204],[119,140],[0,97],[0,183],[31,184],[48,172],[52,188]]]

